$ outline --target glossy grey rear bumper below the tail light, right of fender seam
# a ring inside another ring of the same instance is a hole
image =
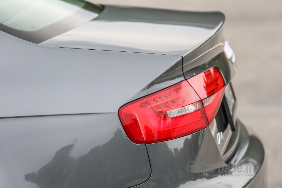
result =
[[[195,145],[199,139],[208,137],[207,129],[205,129],[194,133],[194,136],[183,137],[183,140],[176,139],[178,141],[174,143],[167,141],[159,145],[147,145],[152,174],[147,182],[136,187],[267,187],[263,145],[256,136],[248,135],[239,120],[236,124],[240,126],[238,149],[224,167],[216,167],[209,171],[202,170],[202,172],[191,171],[189,168],[191,161],[195,163],[195,159],[197,160],[199,155],[204,154],[199,153],[199,150],[195,151]],[[203,145],[203,143],[199,142],[198,145]],[[206,150],[209,150],[207,146],[205,147]],[[207,162],[208,158],[214,157],[212,155],[214,153],[207,152],[208,157],[202,159]],[[196,162],[196,164],[199,168],[199,163]]]

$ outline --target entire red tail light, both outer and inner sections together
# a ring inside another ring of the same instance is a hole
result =
[[[187,81],[120,108],[119,117],[130,140],[138,144],[161,142],[209,126],[224,95],[222,75],[214,67]]]

